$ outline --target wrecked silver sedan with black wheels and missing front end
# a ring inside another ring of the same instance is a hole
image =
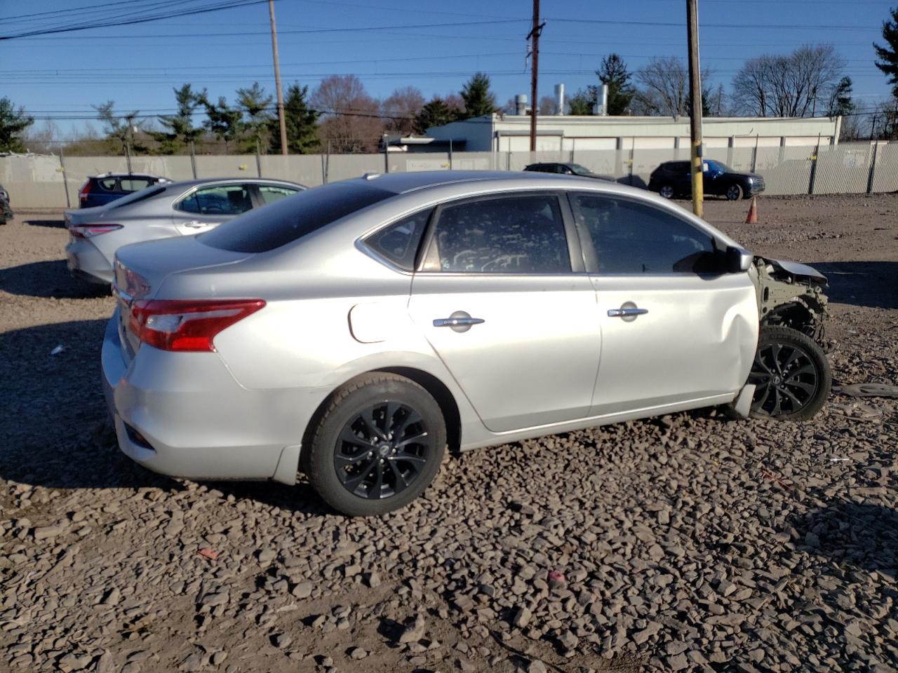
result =
[[[830,387],[823,276],[601,180],[366,176],[116,257],[121,450],[302,471],[348,514],[409,503],[447,446],[726,404],[803,419]]]

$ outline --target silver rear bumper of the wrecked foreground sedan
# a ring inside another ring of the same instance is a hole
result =
[[[216,353],[143,345],[126,363],[118,310],[103,338],[103,389],[119,448],[145,468],[189,479],[294,484],[305,424],[326,393],[249,390]]]

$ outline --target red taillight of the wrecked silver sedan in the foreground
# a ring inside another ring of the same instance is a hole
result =
[[[263,306],[260,299],[143,300],[131,305],[128,327],[163,351],[214,352],[219,332]]]

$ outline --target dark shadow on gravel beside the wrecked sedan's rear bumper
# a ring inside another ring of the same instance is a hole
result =
[[[105,327],[104,319],[76,320],[0,333],[0,478],[48,488],[181,488],[116,446],[100,382]]]

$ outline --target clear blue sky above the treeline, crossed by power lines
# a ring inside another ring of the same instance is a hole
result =
[[[109,16],[102,8],[74,11],[92,4],[99,0],[0,0],[0,34]],[[136,16],[148,4],[163,2],[119,2],[117,7]],[[527,0],[277,0],[275,5],[285,87],[296,81],[313,90],[329,74],[357,74],[377,98],[409,84],[430,98],[457,92],[481,70],[490,75],[500,105],[515,93],[530,92],[524,37],[533,5]],[[869,109],[889,94],[885,75],[873,64],[871,44],[882,42],[881,24],[889,6],[889,0],[700,0],[701,64],[712,71],[714,87],[723,83],[728,90],[748,57],[832,43],[846,61],[858,108]],[[73,11],[22,16],[57,10]],[[593,71],[612,51],[621,54],[631,71],[649,57],[685,57],[683,0],[542,0],[541,14],[546,26],[540,43],[540,95],[551,94],[559,82],[568,93],[594,83]],[[110,99],[118,111],[164,114],[174,107],[172,87],[188,82],[230,101],[236,88],[254,81],[273,92],[264,3],[0,41],[0,95],[24,105],[39,118],[37,127],[45,117],[90,117],[92,104]],[[67,135],[84,127],[84,121],[57,119],[57,125]]]

